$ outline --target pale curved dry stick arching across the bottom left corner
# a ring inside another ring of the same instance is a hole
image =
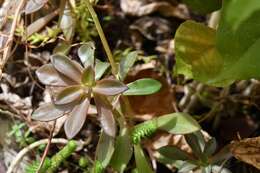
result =
[[[8,170],[6,173],[12,173],[16,167],[16,165],[22,160],[22,158],[31,150],[33,150],[34,148],[42,145],[42,144],[48,144],[49,139],[42,139],[39,140],[37,142],[34,142],[32,144],[30,144],[29,146],[27,146],[26,148],[22,149],[15,157],[15,159],[12,161],[12,163],[10,164]],[[67,144],[68,140],[64,139],[64,138],[53,138],[51,140],[51,143],[55,143],[55,144]]]

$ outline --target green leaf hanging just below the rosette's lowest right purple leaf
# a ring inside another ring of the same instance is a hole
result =
[[[97,145],[96,160],[102,164],[103,168],[108,166],[114,150],[114,138],[102,131]]]

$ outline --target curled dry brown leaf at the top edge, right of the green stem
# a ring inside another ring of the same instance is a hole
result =
[[[121,0],[121,9],[132,16],[144,16],[153,12],[159,12],[164,16],[175,16],[182,19],[189,18],[187,8],[169,0]]]

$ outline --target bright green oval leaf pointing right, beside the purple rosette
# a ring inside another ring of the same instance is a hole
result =
[[[161,89],[161,83],[157,80],[144,78],[127,84],[128,90],[124,95],[149,95],[156,93]]]

